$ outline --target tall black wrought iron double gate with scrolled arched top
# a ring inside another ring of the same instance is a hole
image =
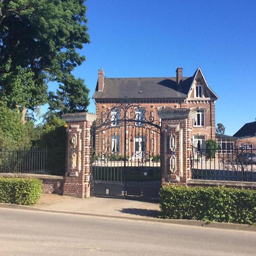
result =
[[[124,98],[92,127],[92,195],[157,199],[160,123],[154,110]]]

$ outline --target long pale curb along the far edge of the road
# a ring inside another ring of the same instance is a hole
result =
[[[63,214],[74,214],[80,216],[90,216],[90,217],[105,217],[105,218],[117,218],[121,220],[133,220],[133,221],[149,221],[149,222],[159,222],[166,224],[176,224],[176,225],[186,225],[186,226],[198,226],[204,228],[216,228],[216,229],[230,229],[230,230],[240,230],[240,231],[250,231],[256,232],[256,226],[245,225],[245,224],[234,224],[234,223],[223,223],[223,222],[208,222],[208,221],[198,221],[198,220],[170,220],[154,217],[129,217],[129,216],[114,216],[107,214],[94,214],[94,213],[80,213],[80,212],[68,212],[60,210],[46,210],[39,209],[35,207],[16,205],[16,204],[4,204],[0,203],[0,208],[7,209],[19,209],[19,210],[35,210],[39,212],[50,212],[50,213],[63,213]]]

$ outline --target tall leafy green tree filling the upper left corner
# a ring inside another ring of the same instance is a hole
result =
[[[49,81],[67,84],[85,60],[77,52],[89,43],[84,2],[0,0],[0,97],[23,119],[26,109],[47,102]]]

